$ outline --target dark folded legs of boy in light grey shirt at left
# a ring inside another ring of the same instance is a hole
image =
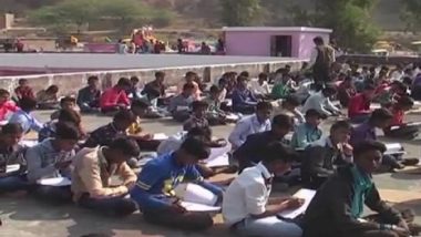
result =
[[[54,187],[37,185],[33,187],[33,195],[37,199],[50,204],[71,204],[72,203],[72,192],[70,186]]]

